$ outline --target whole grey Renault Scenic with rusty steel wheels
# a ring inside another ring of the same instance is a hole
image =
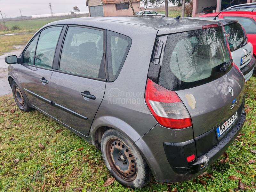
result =
[[[195,178],[245,121],[244,76],[218,22],[60,20],[5,61],[18,107],[41,111],[99,148],[127,187],[140,188],[152,176]]]

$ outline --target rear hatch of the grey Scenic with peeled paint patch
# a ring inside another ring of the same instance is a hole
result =
[[[244,106],[244,76],[232,63],[224,29],[209,27],[161,36],[157,46],[165,47],[156,48],[154,60],[161,64],[157,83],[175,91],[188,110],[197,156],[232,129]]]

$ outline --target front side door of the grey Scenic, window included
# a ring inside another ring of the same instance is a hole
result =
[[[20,83],[30,103],[49,113],[51,110],[49,81],[56,45],[63,26],[40,31],[21,56]]]

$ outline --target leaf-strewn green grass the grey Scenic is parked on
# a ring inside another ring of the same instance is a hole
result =
[[[256,159],[251,150],[256,150],[256,78],[246,83],[246,105],[250,106],[242,135],[227,149],[229,161],[216,161],[206,171],[212,177],[197,178],[181,183],[156,183],[135,191],[234,191],[238,180],[230,180],[230,175],[241,181],[252,191],[255,181]],[[34,110],[20,111],[12,95],[0,97],[0,191],[62,191],[66,182],[69,191],[81,187],[83,191],[132,191],[117,181],[108,187],[102,184],[109,178],[100,150],[94,148],[62,125]],[[14,109],[14,113],[11,110]],[[56,133],[56,130],[63,129]],[[253,132],[254,131],[254,132]],[[13,138],[13,139],[12,139]],[[157,138],[157,135],[156,135]],[[39,148],[42,143],[45,148]],[[84,149],[77,151],[78,148]],[[221,159],[222,157],[220,157]],[[19,159],[18,163],[13,160]],[[219,160],[220,160],[219,159]],[[245,173],[238,173],[242,171]],[[200,180],[206,181],[201,184]]]

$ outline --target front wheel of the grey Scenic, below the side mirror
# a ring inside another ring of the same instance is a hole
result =
[[[12,94],[17,106],[20,108],[21,111],[31,111],[33,108],[28,106],[27,101],[24,99],[23,94],[20,90],[20,87],[16,84],[15,81],[12,81]]]

